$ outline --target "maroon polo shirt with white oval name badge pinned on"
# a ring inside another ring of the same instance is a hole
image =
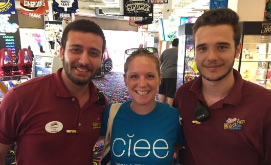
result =
[[[1,102],[0,143],[16,142],[16,164],[92,164],[104,106],[91,82],[89,100],[80,108],[61,71],[11,89]]]

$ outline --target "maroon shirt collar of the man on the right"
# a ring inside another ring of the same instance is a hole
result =
[[[241,92],[243,86],[243,79],[241,74],[233,69],[233,75],[235,78],[235,83],[232,89],[230,90],[229,94],[223,99],[223,103],[232,104],[237,106],[241,100]],[[192,86],[190,87],[189,91],[193,92],[196,95],[196,98],[204,101],[204,96],[201,91],[202,87],[202,76],[200,75],[196,80],[193,82]],[[205,102],[205,101],[204,101]]]

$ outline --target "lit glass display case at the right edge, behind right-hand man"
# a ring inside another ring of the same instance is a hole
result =
[[[242,22],[242,51],[234,68],[245,80],[271,90],[271,23]]]

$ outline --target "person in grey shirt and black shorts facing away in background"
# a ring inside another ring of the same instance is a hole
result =
[[[172,105],[177,86],[177,61],[179,39],[172,41],[172,48],[166,49],[160,56],[162,81],[159,86],[159,99]]]

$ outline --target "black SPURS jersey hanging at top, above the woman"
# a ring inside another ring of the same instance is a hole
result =
[[[132,13],[137,15],[140,12],[149,13],[150,12],[150,4],[147,4],[145,1],[132,1],[127,2],[126,5],[127,13]]]

